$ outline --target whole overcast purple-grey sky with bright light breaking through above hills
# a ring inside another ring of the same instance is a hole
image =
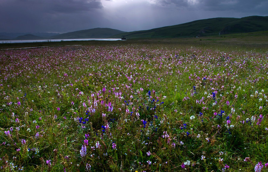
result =
[[[268,0],[0,0],[0,32],[125,32],[194,20],[268,16]]]

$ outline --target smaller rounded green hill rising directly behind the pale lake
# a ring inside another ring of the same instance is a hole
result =
[[[121,30],[110,28],[94,28],[87,30],[79,30],[75,32],[67,32],[60,35],[50,37],[50,39],[85,39],[85,38],[108,38],[113,35],[124,33]],[[121,37],[119,37],[121,38]]]

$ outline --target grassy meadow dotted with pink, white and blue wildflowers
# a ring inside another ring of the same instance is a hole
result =
[[[267,34],[0,49],[1,171],[268,170]]]

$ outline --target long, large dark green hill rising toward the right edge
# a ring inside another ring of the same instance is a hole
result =
[[[169,38],[213,36],[230,33],[245,33],[268,30],[268,16],[249,16],[244,18],[209,18],[174,26],[160,27],[150,30],[125,32],[112,38]]]

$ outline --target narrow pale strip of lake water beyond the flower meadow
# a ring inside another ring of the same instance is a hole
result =
[[[0,40],[0,43],[33,43],[33,42],[59,42],[59,41],[81,41],[81,40],[121,40],[118,39],[40,39],[40,40]]]

